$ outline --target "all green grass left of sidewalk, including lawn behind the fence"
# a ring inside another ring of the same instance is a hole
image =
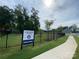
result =
[[[0,40],[0,59],[31,59],[34,56],[37,56],[45,51],[48,51],[51,48],[64,43],[67,39],[67,36],[49,42],[46,42],[45,39],[46,35],[44,34],[42,37],[42,42],[40,44],[39,35],[36,35],[34,47],[30,44],[29,46],[24,46],[23,50],[20,50],[20,46],[18,45],[20,45],[21,42],[21,34],[9,35],[8,47],[13,46],[9,48],[5,48],[4,36],[3,40]]]

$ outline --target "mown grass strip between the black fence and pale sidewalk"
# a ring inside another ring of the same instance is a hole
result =
[[[13,38],[13,35],[10,36]],[[16,41],[14,41],[16,39]],[[13,44],[16,44],[18,42],[19,37],[16,37],[13,41],[9,41],[10,43],[12,42]],[[0,49],[0,59],[31,59],[32,57],[35,57],[45,51],[48,51],[49,49],[52,49],[62,43],[64,43],[67,40],[67,36],[61,37],[57,40],[52,40],[49,42],[42,42],[41,44],[39,43],[39,40],[36,40],[35,46],[24,46],[23,50],[20,50],[20,46],[17,47],[11,47],[11,48],[3,48]],[[18,42],[18,44],[20,44]]]

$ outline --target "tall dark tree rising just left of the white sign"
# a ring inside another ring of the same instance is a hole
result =
[[[16,19],[16,28],[19,32],[23,31],[24,27],[24,18],[23,18],[23,8],[21,5],[16,6],[15,8],[15,19]]]

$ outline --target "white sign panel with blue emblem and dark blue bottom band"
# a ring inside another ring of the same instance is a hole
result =
[[[24,30],[23,32],[23,44],[33,43],[34,41],[34,31]]]

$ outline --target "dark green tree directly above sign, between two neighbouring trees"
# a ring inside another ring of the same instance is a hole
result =
[[[23,17],[24,17],[24,29],[33,30],[33,22],[25,8],[23,8]]]

